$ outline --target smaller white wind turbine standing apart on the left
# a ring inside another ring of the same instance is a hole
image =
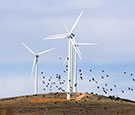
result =
[[[56,48],[50,48],[48,50],[45,50],[43,52],[40,53],[35,53],[32,49],[30,49],[25,43],[22,42],[22,45],[29,50],[29,52],[31,52],[35,58],[34,58],[34,62],[33,62],[33,66],[32,66],[32,71],[31,71],[31,76],[33,75],[34,69],[35,69],[35,94],[38,94],[38,58],[40,55],[47,53],[51,50],[54,50]]]

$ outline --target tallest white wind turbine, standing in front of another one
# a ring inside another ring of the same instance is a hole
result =
[[[67,81],[67,99],[70,100],[71,92],[72,92],[72,46],[74,47],[75,51],[77,52],[78,56],[81,58],[79,51],[74,45],[73,37],[75,35],[73,34],[73,31],[80,20],[81,15],[83,14],[83,11],[80,13],[79,17],[75,21],[74,25],[72,26],[71,30],[67,34],[59,34],[59,35],[51,35],[48,36],[48,38],[43,38],[43,40],[46,39],[63,39],[68,38],[68,81]],[[68,31],[68,30],[67,30]]]

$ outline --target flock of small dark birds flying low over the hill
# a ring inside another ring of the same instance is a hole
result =
[[[123,77],[121,81],[113,80],[113,76],[111,74],[107,74],[105,70],[100,70],[100,74],[97,76],[94,75],[94,69],[89,69],[88,75],[84,75],[82,69],[78,69],[77,83],[74,84],[75,87],[83,87],[79,86],[79,82],[82,82],[84,86],[84,91],[86,93],[91,94],[99,94],[104,96],[114,96],[114,97],[124,97],[124,94],[133,93],[134,87],[129,84],[121,86],[123,79],[126,78],[130,82],[135,82],[135,76],[133,73],[128,73],[126,71],[122,72],[121,76]],[[61,72],[61,74],[56,73],[52,77],[47,77],[44,75],[44,72],[41,72],[41,82],[42,82],[42,91],[44,93],[47,92],[66,92],[66,84],[67,84],[67,75],[68,65],[65,65],[65,69]],[[92,74],[93,73],[93,74]],[[116,78],[116,77],[115,77]],[[86,86],[87,85],[87,86]]]

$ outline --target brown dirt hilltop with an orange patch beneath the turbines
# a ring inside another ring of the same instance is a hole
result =
[[[0,115],[135,115],[135,103],[114,97],[66,93],[0,99]]]

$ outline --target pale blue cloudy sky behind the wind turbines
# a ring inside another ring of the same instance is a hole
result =
[[[111,78],[101,85],[113,81],[119,84],[119,90],[126,90],[129,85],[135,88],[130,76],[135,74],[134,5],[134,0],[0,0],[0,98],[34,93],[34,77],[30,77],[34,56],[22,46],[22,41],[36,53],[56,47],[39,58],[39,93],[46,93],[42,91],[40,72],[46,76],[63,74],[68,40],[42,38],[66,33],[64,25],[71,29],[81,11],[84,13],[74,30],[75,39],[98,45],[79,47],[82,60],[78,59],[78,69],[84,70],[86,79],[91,78],[89,69],[97,79],[104,69]],[[66,80],[67,74],[63,77]],[[80,92],[97,91],[92,83],[79,78],[78,82]],[[122,95],[119,90],[114,94],[135,100],[133,92]]]

